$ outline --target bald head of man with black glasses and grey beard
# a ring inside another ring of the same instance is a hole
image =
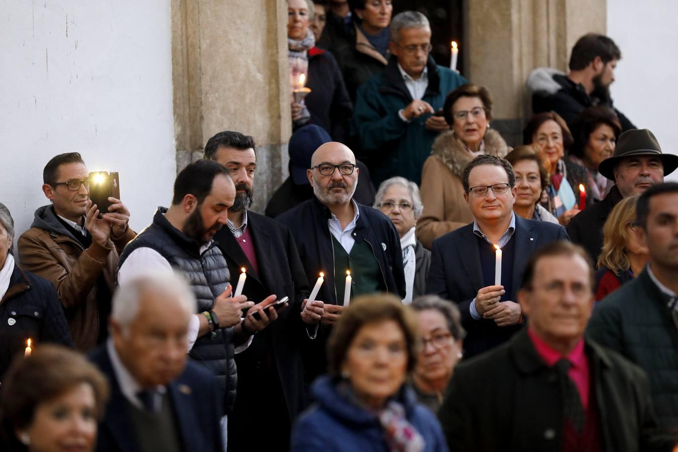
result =
[[[351,149],[338,142],[325,143],[313,152],[311,168],[306,175],[321,203],[330,206],[351,202],[358,182]]]

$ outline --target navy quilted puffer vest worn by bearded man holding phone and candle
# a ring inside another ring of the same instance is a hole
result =
[[[137,248],[152,248],[167,262],[188,278],[195,293],[198,312],[212,309],[214,299],[226,288],[230,279],[228,265],[221,251],[212,243],[209,249],[200,253],[201,245],[169,224],[165,207],[158,207],[153,223],[129,242],[120,256],[120,268],[132,251]],[[233,348],[233,329],[219,329],[212,334],[199,337],[189,356],[203,365],[219,379],[224,396],[224,413],[228,414],[235,403],[237,368]]]

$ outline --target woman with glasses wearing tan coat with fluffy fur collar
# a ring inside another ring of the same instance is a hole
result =
[[[447,95],[443,115],[452,130],[436,138],[422,169],[424,211],[417,238],[428,249],[434,239],[473,222],[462,187],[466,164],[479,155],[504,157],[509,152],[500,134],[489,128],[492,97],[487,88],[472,83],[458,87]]]

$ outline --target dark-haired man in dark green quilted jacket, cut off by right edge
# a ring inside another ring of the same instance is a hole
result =
[[[658,184],[641,194],[636,216],[634,233],[650,250],[650,262],[593,310],[586,333],[647,373],[660,429],[676,444],[678,184]]]

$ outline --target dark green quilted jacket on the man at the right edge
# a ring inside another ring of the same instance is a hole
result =
[[[639,365],[650,377],[652,403],[664,429],[678,428],[678,329],[647,270],[593,310],[586,333]]]

